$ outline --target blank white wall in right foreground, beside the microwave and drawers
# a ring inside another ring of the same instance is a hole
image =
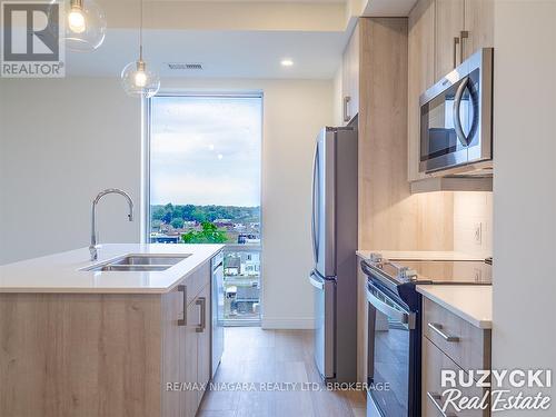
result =
[[[555,22],[555,1],[496,1],[493,366],[498,369],[556,371]],[[553,377],[553,403],[554,384]],[[554,407],[538,414],[554,416]]]

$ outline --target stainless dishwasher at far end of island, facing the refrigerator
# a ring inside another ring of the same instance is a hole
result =
[[[211,281],[211,377],[215,376],[224,354],[224,251],[212,258]]]

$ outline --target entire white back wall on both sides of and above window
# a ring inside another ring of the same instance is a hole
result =
[[[310,178],[332,81],[177,80],[166,89],[262,91],[264,326],[314,325]],[[139,206],[140,106],[117,79],[0,80],[0,264],[88,245],[90,202],[108,187]],[[138,207],[139,209],[139,207]],[[138,241],[139,217],[110,196],[102,241]]]

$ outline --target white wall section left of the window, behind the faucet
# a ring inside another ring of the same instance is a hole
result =
[[[90,205],[119,187],[139,201],[140,102],[117,79],[0,80],[0,264],[89,245]],[[101,241],[137,241],[109,196]]]

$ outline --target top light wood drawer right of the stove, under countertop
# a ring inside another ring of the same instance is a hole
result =
[[[470,325],[427,298],[423,335],[463,369],[490,369],[490,330]]]

